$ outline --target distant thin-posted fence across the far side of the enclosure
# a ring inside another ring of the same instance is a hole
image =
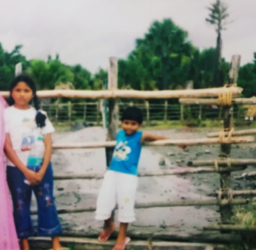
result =
[[[161,100],[160,100],[161,101]],[[196,104],[169,104],[168,101],[161,103],[144,103],[118,101],[118,110],[120,117],[122,111],[130,105],[136,105],[143,112],[143,120],[150,125],[152,122],[167,122],[170,120],[223,120],[223,109],[220,105],[213,107],[211,105]],[[71,122],[85,121],[88,123],[102,124],[103,102],[68,102],[53,103],[41,105],[41,109],[46,111],[51,122]],[[232,105],[233,118],[236,120],[245,120],[247,109],[240,104]]]

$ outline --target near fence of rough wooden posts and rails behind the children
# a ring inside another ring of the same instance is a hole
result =
[[[233,59],[233,58],[232,58]],[[237,79],[237,72],[239,68],[240,63],[240,57],[238,60],[238,57],[234,58],[234,61],[232,60],[232,69],[236,68],[235,72],[230,72],[230,81],[229,84],[234,84]],[[107,142],[103,141],[97,142],[97,143],[76,143],[71,144],[68,143],[66,145],[53,145],[53,148],[55,149],[70,149],[70,148],[88,148],[88,147],[105,147],[106,148],[106,158],[107,158],[107,165],[109,165],[111,155],[113,152],[113,146],[115,145],[115,137],[116,137],[116,130],[118,125],[118,105],[116,98],[141,98],[141,99],[147,99],[147,98],[171,98],[171,97],[220,97],[223,93],[227,94],[227,96],[232,94],[232,97],[235,97],[236,95],[239,95],[242,91],[242,89],[236,88],[235,86],[230,88],[218,88],[218,89],[203,89],[200,91],[200,89],[197,90],[190,90],[190,91],[152,91],[152,93],[145,93],[147,91],[141,91],[140,94],[137,92],[125,92],[125,91],[117,91],[115,90],[117,86],[117,59],[111,58],[110,59],[110,66],[109,66],[109,90],[101,91],[101,93],[95,93],[97,91],[91,91],[91,98],[109,98],[109,126],[108,126],[108,135],[107,135]],[[88,95],[88,91],[76,91],[75,93],[68,93],[67,91],[47,91],[47,93],[40,93],[39,96],[41,97],[80,97],[80,98],[88,98],[90,95]],[[176,93],[176,94],[175,94]],[[7,95],[7,93],[1,93],[4,96]],[[132,95],[133,94],[133,95]],[[228,97],[226,97],[228,99]],[[215,99],[216,101],[217,99]],[[234,100],[234,99],[233,99]],[[243,100],[246,102],[246,100]],[[212,100],[205,99],[205,103],[207,105],[211,103]],[[148,143],[147,145],[179,145],[179,144],[186,144],[186,145],[199,145],[199,144],[209,144],[209,143],[218,143],[220,144],[220,155],[218,159],[215,159],[215,161],[211,162],[200,162],[200,161],[192,161],[190,162],[191,165],[193,165],[193,168],[186,168],[186,170],[182,174],[187,173],[200,173],[200,172],[218,172],[220,174],[220,191],[217,193],[217,199],[211,199],[207,201],[202,200],[181,200],[181,201],[165,201],[165,202],[156,202],[156,203],[138,203],[136,207],[138,209],[140,208],[149,208],[149,207],[171,207],[171,206],[195,206],[195,205],[217,205],[220,207],[220,218],[223,224],[222,225],[213,225],[207,229],[209,230],[233,230],[231,223],[231,214],[232,214],[232,205],[238,205],[238,204],[245,204],[247,203],[247,199],[242,198],[236,198],[235,195],[233,195],[233,191],[231,188],[231,179],[230,179],[230,172],[237,171],[237,170],[243,170],[246,168],[247,163],[244,162],[237,162],[236,159],[230,159],[230,146],[232,143],[249,143],[254,140],[254,137],[251,136],[240,136],[236,137],[234,136],[234,132],[232,130],[232,99],[230,99],[230,103],[224,103],[222,105],[223,109],[223,117],[224,117],[224,129],[226,132],[228,132],[228,136],[225,136],[225,133],[220,132],[217,137],[213,137],[216,135],[210,135],[211,138],[203,138],[203,139],[184,139],[184,140],[164,140],[164,141],[154,141],[151,143]],[[71,105],[71,104],[69,104]],[[165,107],[168,105],[165,104]],[[148,110],[150,110],[150,106],[148,105]],[[164,109],[165,111],[166,109]],[[168,110],[168,109],[167,109]],[[59,111],[58,111],[59,112]],[[59,114],[57,112],[57,114]],[[70,119],[72,118],[72,109],[70,109],[70,106],[68,108],[68,112],[70,114]],[[87,112],[83,113],[87,116]],[[164,117],[166,116],[166,119],[168,117],[168,112],[163,112]],[[55,112],[56,116],[56,112]],[[150,116],[150,114],[149,114]],[[221,116],[222,117],[222,116]],[[253,132],[255,132],[253,130]],[[239,133],[238,133],[239,134]],[[251,134],[251,131],[243,132],[242,134]],[[213,137],[213,138],[212,138]],[[253,159],[246,159],[247,162],[253,162]],[[236,164],[234,164],[236,162]],[[198,166],[200,166],[198,168]],[[190,169],[190,170],[189,170]],[[167,171],[163,170],[162,172],[157,173],[148,173],[149,175],[172,175],[172,174],[181,174],[179,171]],[[74,176],[72,174],[67,174],[65,176],[55,176],[55,178],[61,180],[61,179],[78,179],[78,178],[102,178],[102,176]],[[246,193],[246,192],[245,192]],[[255,195],[255,192],[247,192],[249,195]],[[243,193],[244,194],[244,193]],[[236,196],[240,195],[240,193],[236,193]],[[80,213],[82,211],[94,211],[95,207],[76,207],[76,208],[68,208],[64,209],[62,211],[59,211],[59,213]],[[36,213],[35,211],[33,213]],[[189,215],[187,215],[189,216]],[[237,229],[236,229],[237,230]],[[255,228],[253,228],[255,230]],[[74,235],[73,235],[74,236]],[[79,236],[86,236],[82,232],[80,232]],[[194,240],[194,239],[193,239]]]

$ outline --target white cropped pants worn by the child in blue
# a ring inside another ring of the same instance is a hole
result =
[[[130,223],[135,220],[134,203],[138,176],[107,170],[97,199],[96,220],[111,218],[118,202],[118,221]]]

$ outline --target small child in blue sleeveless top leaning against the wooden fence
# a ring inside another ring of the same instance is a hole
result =
[[[97,199],[96,220],[105,220],[106,228],[98,240],[105,242],[116,230],[111,220],[111,212],[118,201],[118,221],[120,229],[115,247],[123,250],[130,238],[126,237],[128,223],[134,222],[134,203],[138,183],[138,162],[143,141],[169,139],[163,136],[138,131],[142,124],[142,112],[137,107],[128,107],[122,114],[122,130],[117,133],[116,146]],[[184,149],[184,145],[180,145]]]

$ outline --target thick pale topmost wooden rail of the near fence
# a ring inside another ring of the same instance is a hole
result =
[[[109,98],[135,98],[135,99],[166,99],[181,97],[218,97],[218,94],[229,93],[240,95],[242,88],[211,88],[211,89],[182,89],[182,90],[161,90],[161,91],[138,91],[138,90],[41,90],[37,91],[39,98],[50,97],[70,97],[70,98],[90,98],[90,99],[109,99]],[[8,91],[0,91],[0,95],[8,97]]]

